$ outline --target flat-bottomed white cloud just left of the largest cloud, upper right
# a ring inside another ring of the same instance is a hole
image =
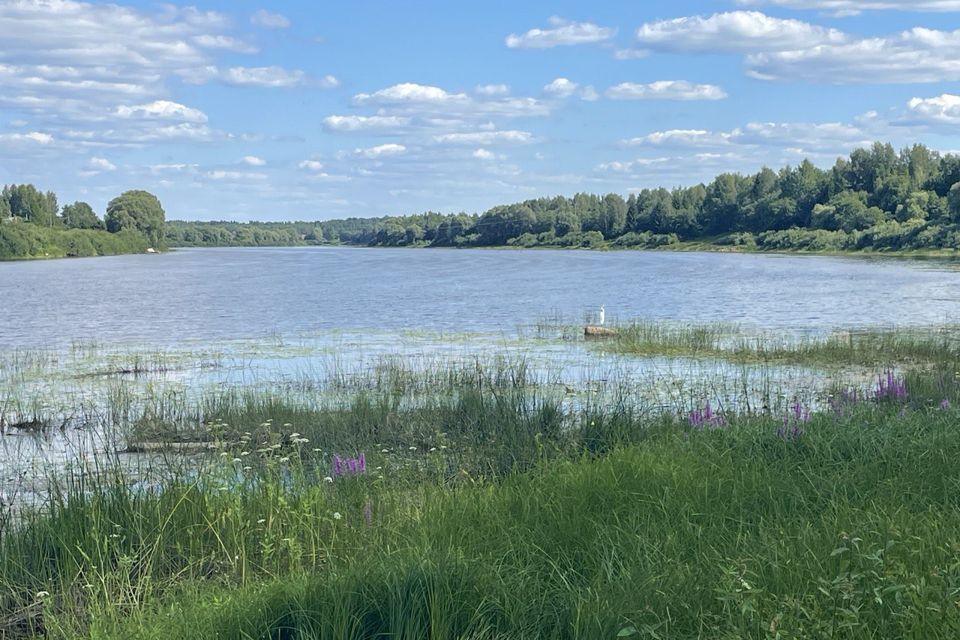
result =
[[[637,29],[644,49],[676,52],[789,51],[842,43],[842,31],[759,11],[730,11],[652,22]]]

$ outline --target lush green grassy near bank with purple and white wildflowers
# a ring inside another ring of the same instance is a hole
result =
[[[813,412],[571,407],[509,370],[225,400],[212,454],[97,458],[7,515],[0,633],[956,637],[956,370]]]

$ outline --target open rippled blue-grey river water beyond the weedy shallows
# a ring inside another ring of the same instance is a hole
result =
[[[960,316],[949,262],[666,252],[187,249],[0,263],[0,347],[332,329],[509,332],[546,316],[816,329]]]

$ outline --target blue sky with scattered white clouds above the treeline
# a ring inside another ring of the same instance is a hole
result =
[[[960,150],[960,0],[0,1],[0,182],[322,220]]]

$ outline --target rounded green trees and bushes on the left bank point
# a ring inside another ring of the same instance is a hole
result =
[[[32,184],[0,191],[0,259],[143,253],[163,249],[165,216],[156,196],[126,191],[107,205],[104,218],[86,202],[62,209],[57,196]]]

